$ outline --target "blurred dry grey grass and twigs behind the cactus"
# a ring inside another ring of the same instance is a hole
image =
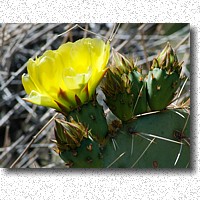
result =
[[[13,163],[15,168],[65,167],[51,142],[54,138],[51,119],[56,112],[22,99],[26,93],[21,76],[27,72],[29,58],[83,37],[109,39],[111,47],[134,58],[144,74],[153,58],[170,42],[179,62],[184,61],[182,74],[187,78],[176,106],[189,102],[189,24],[0,24],[0,167],[9,168]],[[38,137],[29,147],[36,134]]]

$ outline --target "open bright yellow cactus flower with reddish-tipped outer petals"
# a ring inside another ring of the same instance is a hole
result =
[[[69,112],[89,101],[107,71],[109,42],[84,38],[47,50],[22,75],[26,101]]]

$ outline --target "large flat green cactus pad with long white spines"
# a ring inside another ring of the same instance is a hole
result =
[[[103,149],[104,167],[189,167],[188,117],[183,110],[166,110],[125,124]]]

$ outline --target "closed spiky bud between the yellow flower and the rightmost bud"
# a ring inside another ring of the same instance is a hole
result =
[[[146,86],[141,70],[132,60],[113,51],[112,65],[102,83],[106,104],[120,120],[147,111]]]

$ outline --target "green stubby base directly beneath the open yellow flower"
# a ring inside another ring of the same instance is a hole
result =
[[[81,122],[88,129],[91,129],[92,136],[101,142],[107,132],[108,126],[104,116],[103,107],[97,101],[90,101],[79,109],[75,109],[69,113],[75,121]]]

